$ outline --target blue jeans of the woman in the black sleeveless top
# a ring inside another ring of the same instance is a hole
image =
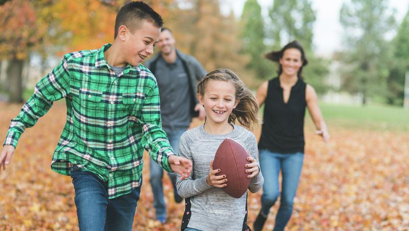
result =
[[[274,230],[284,230],[291,217],[303,160],[302,152],[280,154],[267,149],[260,150],[260,167],[264,177],[261,211],[265,215],[269,214],[270,208],[280,195],[278,183],[280,170],[282,174],[280,208],[277,212]]]

